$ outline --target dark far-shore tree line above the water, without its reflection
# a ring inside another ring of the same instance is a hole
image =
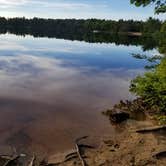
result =
[[[4,18],[0,17],[1,33],[33,34],[48,33],[87,33],[87,32],[146,32],[159,31],[162,22],[158,19],[149,18],[147,21],[134,20],[100,20],[100,19],[42,19],[42,18]]]

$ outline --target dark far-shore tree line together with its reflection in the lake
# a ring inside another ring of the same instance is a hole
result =
[[[113,21],[99,19],[26,19],[24,17],[6,19],[0,17],[0,33],[8,32],[23,36],[55,37],[86,42],[106,42],[117,45],[141,45],[143,50],[150,50],[159,46],[159,41],[152,34],[159,33],[161,24],[161,21],[152,18],[143,22],[122,19]],[[144,31],[146,32],[144,33]],[[140,32],[143,35],[132,36],[131,32]],[[160,50],[163,52],[162,47]]]

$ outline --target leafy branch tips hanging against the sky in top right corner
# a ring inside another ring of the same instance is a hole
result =
[[[147,6],[151,3],[155,4],[155,13],[165,13],[166,12],[166,0],[130,0],[135,6]]]

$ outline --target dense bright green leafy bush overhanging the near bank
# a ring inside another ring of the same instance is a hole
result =
[[[136,77],[130,91],[144,99],[150,107],[166,113],[166,58],[151,72]]]

